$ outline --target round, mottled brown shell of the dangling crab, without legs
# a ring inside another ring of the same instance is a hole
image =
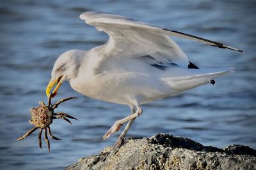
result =
[[[41,106],[30,110],[31,120],[29,122],[43,129],[52,123],[52,110],[45,106],[43,102],[39,102],[39,104]]]

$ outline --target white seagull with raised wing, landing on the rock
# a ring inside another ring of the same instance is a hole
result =
[[[117,120],[102,137],[103,140],[109,138],[128,122],[110,151],[122,145],[135,118],[143,112],[141,104],[207,83],[214,85],[214,78],[234,72],[234,68],[199,69],[189,62],[188,56],[170,36],[243,52],[232,46],[120,15],[86,11],[80,18],[98,31],[106,32],[109,39],[104,45],[87,51],[69,50],[61,54],[52,68],[46,95],[56,96],[61,83],[69,81],[72,89],[84,96],[128,105],[131,115]]]

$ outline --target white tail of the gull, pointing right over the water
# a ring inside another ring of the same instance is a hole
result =
[[[227,69],[182,69],[173,68],[164,73],[161,80],[177,92],[193,89],[206,83],[211,83],[214,78],[234,73],[234,68]]]

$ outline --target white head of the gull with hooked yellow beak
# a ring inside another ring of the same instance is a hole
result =
[[[52,68],[51,80],[49,81],[49,84],[45,90],[46,96],[49,97],[51,89],[54,87],[54,85],[56,85],[56,87],[52,92],[52,97],[56,96],[63,81],[70,81],[72,78],[77,76],[82,56],[82,50],[70,50],[58,57]]]

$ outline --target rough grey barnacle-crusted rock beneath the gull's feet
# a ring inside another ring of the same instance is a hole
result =
[[[65,169],[256,169],[256,150],[243,145],[220,149],[157,134],[126,139],[115,153],[84,157]]]

